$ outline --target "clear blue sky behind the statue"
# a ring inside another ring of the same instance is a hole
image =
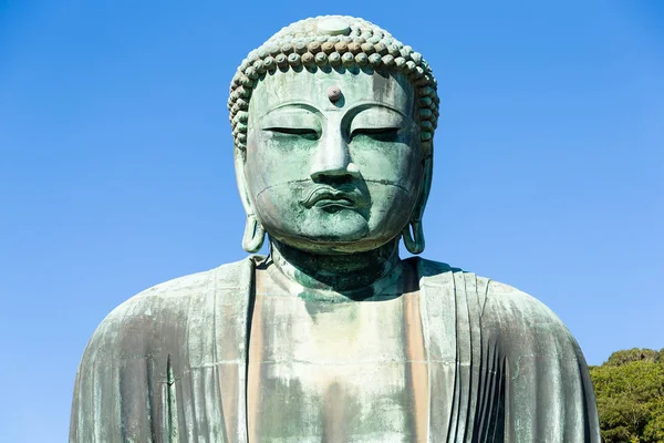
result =
[[[307,3],[0,0],[0,440],[64,442],[104,316],[245,256],[228,84],[324,13],[436,73],[425,257],[538,297],[592,364],[664,347],[663,1]]]

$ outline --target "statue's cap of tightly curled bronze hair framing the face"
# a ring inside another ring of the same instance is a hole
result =
[[[417,93],[417,117],[425,155],[430,156],[438,120],[438,94],[432,70],[422,58],[390,32],[354,17],[321,16],[297,21],[249,52],[230,83],[228,110],[236,150],[247,143],[249,100],[267,73],[289,69],[361,69],[406,74]]]

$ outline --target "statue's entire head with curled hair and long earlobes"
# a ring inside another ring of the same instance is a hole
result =
[[[302,20],[249,53],[228,106],[246,250],[266,231],[319,254],[401,235],[424,249],[438,96],[411,47],[362,19]]]

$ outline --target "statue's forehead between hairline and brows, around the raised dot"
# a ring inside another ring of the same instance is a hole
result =
[[[335,105],[330,101],[330,86],[341,89],[343,102]],[[258,82],[249,102],[249,112],[260,116],[293,101],[308,102],[325,112],[343,111],[362,102],[377,102],[405,115],[413,115],[415,91],[406,76],[400,72],[277,71]]]

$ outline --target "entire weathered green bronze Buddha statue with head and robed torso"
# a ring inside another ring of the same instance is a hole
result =
[[[242,246],[267,235],[269,255],[111,312],[70,442],[600,442],[561,321],[416,257],[439,103],[419,53],[361,19],[312,18],[250,52],[230,91]]]

